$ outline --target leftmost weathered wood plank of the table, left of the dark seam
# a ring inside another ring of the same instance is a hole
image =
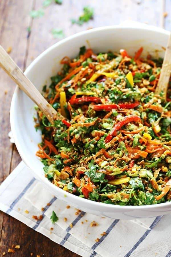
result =
[[[25,59],[25,50],[27,45],[27,26],[29,24],[29,17],[26,13],[30,10],[32,1],[25,5],[23,1],[0,1],[0,44],[7,49],[12,47],[11,57],[23,68]],[[22,12],[21,12],[22,10]],[[20,24],[20,26],[18,26]],[[11,167],[12,152],[15,147],[9,142],[8,132],[10,131],[9,109],[13,91],[15,89],[14,83],[8,76],[0,70],[0,183],[9,175]],[[17,160],[17,158],[16,158]],[[19,161],[19,158],[18,158]],[[18,162],[15,163],[16,165]],[[3,237],[2,225],[8,216],[0,212],[0,239]],[[12,238],[12,234],[8,238]]]

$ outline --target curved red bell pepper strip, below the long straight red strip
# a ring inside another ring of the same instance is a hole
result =
[[[128,115],[123,118],[122,121],[119,121],[109,132],[107,137],[105,138],[105,142],[108,143],[111,141],[113,136],[116,136],[117,132],[120,130],[121,127],[123,127],[125,124],[135,121],[135,122],[141,122],[141,119],[139,116],[134,116],[134,115]]]

